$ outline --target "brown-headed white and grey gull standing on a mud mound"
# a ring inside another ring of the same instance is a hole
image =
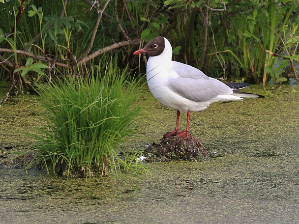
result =
[[[207,109],[211,103],[220,101],[242,101],[242,97],[264,96],[237,91],[249,84],[223,83],[211,78],[201,70],[190,65],[172,60],[172,46],[168,39],[158,36],[133,55],[146,53],[147,83],[153,96],[167,107],[177,110],[177,121],[174,131],[167,132],[164,138],[171,136],[188,139],[191,112]],[[179,130],[181,112],[187,113],[185,131]]]

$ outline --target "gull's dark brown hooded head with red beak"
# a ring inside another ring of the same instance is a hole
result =
[[[165,48],[164,37],[158,36],[153,38],[147,43],[147,45],[138,51],[135,51],[133,55],[138,55],[141,53],[147,53],[149,56],[158,56],[161,55]]]

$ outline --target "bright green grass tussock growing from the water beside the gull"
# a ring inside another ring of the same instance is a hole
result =
[[[136,104],[140,84],[127,79],[128,74],[108,65],[104,75],[68,77],[40,86],[43,100],[39,103],[46,110],[48,130],[38,129],[32,149],[37,150],[48,174],[52,170],[54,175],[67,172],[68,176],[77,170],[87,176],[94,172],[108,175],[129,167],[146,169],[130,158],[140,152],[125,147],[126,140],[137,134],[132,123],[142,108]]]

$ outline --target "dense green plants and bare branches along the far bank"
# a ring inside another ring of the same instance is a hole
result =
[[[116,55],[120,68],[141,65],[145,72],[132,52],[163,35],[176,60],[209,76],[295,83],[298,6],[298,0],[4,0],[0,77],[26,84]]]

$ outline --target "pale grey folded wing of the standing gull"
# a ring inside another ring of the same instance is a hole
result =
[[[190,65],[177,62],[175,70],[179,77],[170,78],[169,87],[186,99],[205,102],[221,94],[233,94],[229,86]]]

